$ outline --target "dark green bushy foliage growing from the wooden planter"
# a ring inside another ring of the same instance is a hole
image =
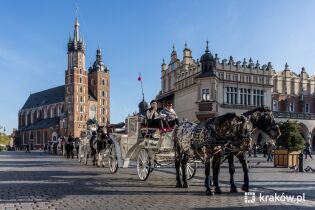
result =
[[[300,133],[300,125],[296,121],[287,120],[279,123],[281,136],[276,145],[289,150],[301,150],[304,148],[304,138]]]

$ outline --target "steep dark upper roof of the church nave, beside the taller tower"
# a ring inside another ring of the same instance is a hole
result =
[[[35,108],[39,106],[45,106],[49,104],[55,104],[63,102],[65,100],[65,86],[43,90],[37,93],[31,94],[25,102],[22,109]]]

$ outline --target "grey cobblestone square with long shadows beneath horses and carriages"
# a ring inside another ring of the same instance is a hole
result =
[[[261,161],[262,158],[257,160]],[[223,165],[220,181],[223,194],[206,196],[203,168],[198,168],[190,188],[175,188],[172,167],[157,168],[140,181],[136,168],[107,168],[83,165],[42,152],[0,153],[0,209],[313,209],[315,175],[275,169],[267,163],[250,169],[251,192],[263,194],[306,193],[306,201],[245,203],[244,192],[229,193],[228,169]],[[307,163],[313,164],[309,161]],[[241,168],[236,169],[241,186]]]

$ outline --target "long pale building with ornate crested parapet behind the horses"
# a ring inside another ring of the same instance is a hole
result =
[[[204,121],[227,112],[242,114],[265,105],[277,121],[297,120],[306,141],[315,148],[315,78],[302,68],[300,74],[289,69],[273,69],[271,62],[220,60],[208,48],[200,59],[193,59],[185,44],[180,60],[175,48],[169,64],[161,66],[161,103],[172,101],[180,119]],[[266,135],[255,131],[258,142]]]

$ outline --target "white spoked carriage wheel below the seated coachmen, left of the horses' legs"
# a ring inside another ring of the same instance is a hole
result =
[[[141,149],[137,159],[137,171],[140,180],[145,181],[150,175],[150,157],[146,149]]]

